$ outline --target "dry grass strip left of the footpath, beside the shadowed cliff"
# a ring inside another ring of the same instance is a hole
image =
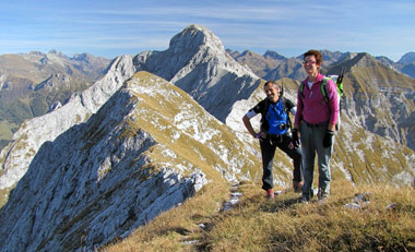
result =
[[[128,239],[104,248],[104,251],[194,251],[186,242],[202,239],[204,231],[199,225],[208,228],[213,225],[228,193],[228,184],[208,184],[194,197],[161,214]]]

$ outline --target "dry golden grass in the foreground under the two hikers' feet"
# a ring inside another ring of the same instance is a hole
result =
[[[353,187],[333,181],[329,201],[299,202],[283,193],[266,201],[258,184],[240,184],[237,206],[217,212],[229,187],[210,184],[105,251],[414,251],[413,188]],[[359,209],[347,208],[356,195]],[[201,228],[199,225],[203,224]],[[186,241],[191,244],[187,244]]]

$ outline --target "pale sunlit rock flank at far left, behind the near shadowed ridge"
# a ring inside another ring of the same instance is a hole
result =
[[[85,121],[134,72],[132,57],[119,57],[107,74],[92,87],[74,94],[61,108],[24,122],[12,142],[0,153],[0,189],[10,188],[22,178],[43,143]]]

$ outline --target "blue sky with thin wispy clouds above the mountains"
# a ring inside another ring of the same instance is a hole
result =
[[[115,58],[165,50],[190,24],[225,48],[297,57],[308,49],[415,51],[414,0],[19,0],[0,3],[0,55],[51,49]]]

